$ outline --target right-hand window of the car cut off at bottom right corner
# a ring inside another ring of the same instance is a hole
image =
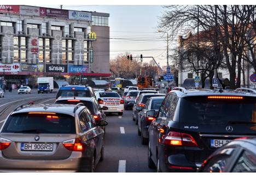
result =
[[[250,151],[244,151],[232,169],[232,173],[255,173],[256,155]]]

